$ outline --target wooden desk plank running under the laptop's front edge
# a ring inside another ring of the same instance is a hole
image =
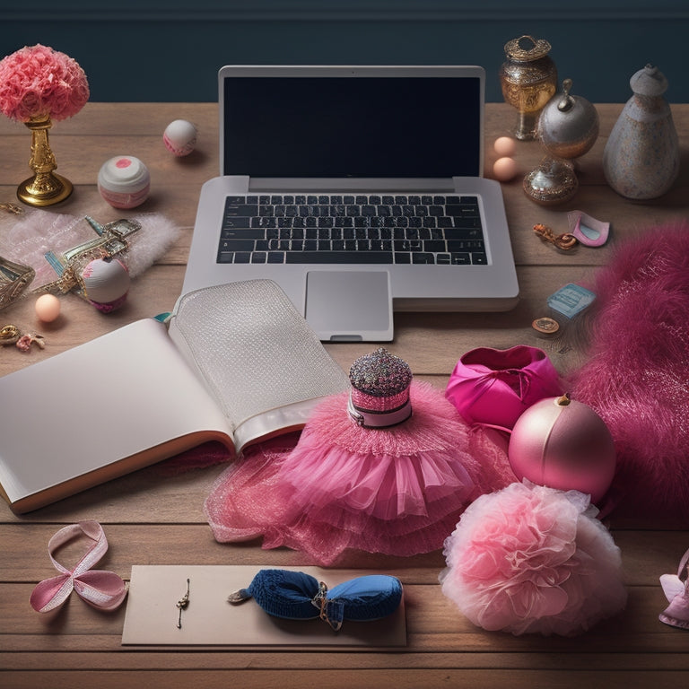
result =
[[[459,356],[476,346],[504,348],[524,344],[551,349],[558,341],[538,336],[531,322],[544,315],[549,294],[565,283],[582,281],[587,269],[524,266],[519,268],[518,275],[521,301],[514,310],[499,313],[397,312],[396,336],[390,348],[409,362],[414,374],[421,376],[449,375]],[[104,335],[138,318],[150,318],[171,310],[181,292],[182,281],[180,266],[152,266],[132,282],[125,307],[107,316],[77,296],[66,295],[61,300],[63,318],[56,324],[40,326],[46,348],[34,349],[26,356],[5,350],[0,358],[0,375]],[[35,323],[33,301],[27,297],[15,302],[3,311],[3,321],[31,327]],[[370,343],[328,343],[326,346],[346,369],[354,359],[371,351]],[[563,359],[563,363],[567,362]]]

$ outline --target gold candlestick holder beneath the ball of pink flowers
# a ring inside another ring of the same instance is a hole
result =
[[[72,182],[58,175],[57,163],[50,149],[48,129],[53,126],[48,115],[31,118],[24,123],[31,129],[31,159],[33,177],[25,179],[17,188],[17,197],[28,205],[58,204],[72,193]]]

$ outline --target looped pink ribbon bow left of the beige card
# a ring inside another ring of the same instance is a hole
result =
[[[93,543],[76,563],[68,570],[53,557],[61,545],[73,538],[88,536]],[[48,613],[65,603],[73,590],[90,606],[100,610],[115,610],[126,597],[126,584],[112,571],[92,570],[92,566],[108,550],[108,540],[97,521],[80,521],[61,528],[48,542],[48,554],[57,571],[57,577],[41,581],[31,592],[31,606],[39,613]]]

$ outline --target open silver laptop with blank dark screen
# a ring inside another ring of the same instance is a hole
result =
[[[482,67],[224,66],[219,100],[183,292],[272,279],[325,341],[516,304]]]

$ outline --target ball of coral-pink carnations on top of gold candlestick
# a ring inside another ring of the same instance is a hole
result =
[[[0,61],[0,110],[8,118],[58,121],[76,115],[87,100],[86,74],[65,53],[36,45]]]

